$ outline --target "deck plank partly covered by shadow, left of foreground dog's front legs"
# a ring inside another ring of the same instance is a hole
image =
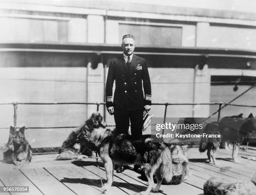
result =
[[[82,194],[100,194],[100,190],[91,186],[89,179],[84,179],[84,175],[69,166],[47,167],[44,168],[57,180],[67,186],[78,195]]]

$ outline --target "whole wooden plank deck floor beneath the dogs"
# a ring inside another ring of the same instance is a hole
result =
[[[249,154],[253,155],[256,153],[255,151],[249,150]],[[59,192],[54,194],[59,195],[101,194],[101,183],[94,158],[55,161],[56,155],[33,155],[32,162],[20,170],[15,165],[0,163],[0,179],[3,178],[2,175],[4,173],[4,184],[6,182],[5,180],[9,180],[9,183],[13,182],[11,184],[15,186],[26,186],[24,183],[21,184],[21,182],[30,183],[28,184],[30,191],[32,189],[31,186],[37,191],[31,191],[32,193],[29,194],[44,193],[47,195],[51,194],[50,192],[53,189],[54,192],[55,190]],[[239,157],[241,155],[245,156],[245,151],[242,149],[239,150]],[[190,179],[179,185],[161,185],[160,190],[162,191],[160,193],[151,193],[151,195],[198,195],[203,193],[203,184],[210,176],[223,178],[228,182],[238,182],[241,180],[250,180],[256,172],[255,161],[241,158],[241,164],[234,163],[230,160],[231,151],[224,149],[220,149],[217,152],[218,165],[206,163],[206,153],[200,154],[198,148],[188,148],[187,156],[190,159]],[[100,166],[100,175],[105,179],[106,175],[102,162],[100,162]],[[228,168],[228,170],[221,172],[220,168],[223,167]],[[124,173],[114,172],[113,187],[111,190],[108,190],[107,194],[118,195],[123,193],[134,195],[135,193],[146,190],[147,182],[141,180],[139,176],[140,174],[133,170],[125,170]],[[104,179],[103,183],[106,182]],[[11,184],[8,186],[11,186]],[[67,190],[64,191],[64,189]]]

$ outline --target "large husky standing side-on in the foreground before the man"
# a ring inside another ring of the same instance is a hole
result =
[[[150,191],[158,192],[163,179],[167,182],[172,180],[171,151],[164,143],[152,143],[151,135],[143,135],[136,140],[131,135],[115,134],[103,128],[93,129],[85,124],[77,138],[80,144],[88,144],[88,148],[97,151],[100,155],[107,175],[107,183],[104,185],[106,190],[113,183],[114,164],[143,165],[148,179],[148,188],[143,192],[144,194]],[[157,185],[152,189],[154,174]]]

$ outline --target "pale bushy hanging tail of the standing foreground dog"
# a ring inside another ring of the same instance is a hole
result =
[[[161,175],[163,178],[170,182],[172,180],[172,154],[169,148],[165,148],[162,157]]]

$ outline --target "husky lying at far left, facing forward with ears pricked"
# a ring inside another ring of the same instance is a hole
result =
[[[14,164],[18,166],[28,165],[31,162],[31,146],[25,138],[25,127],[18,131],[10,126],[10,135],[8,143],[0,148],[0,161],[3,163]]]

